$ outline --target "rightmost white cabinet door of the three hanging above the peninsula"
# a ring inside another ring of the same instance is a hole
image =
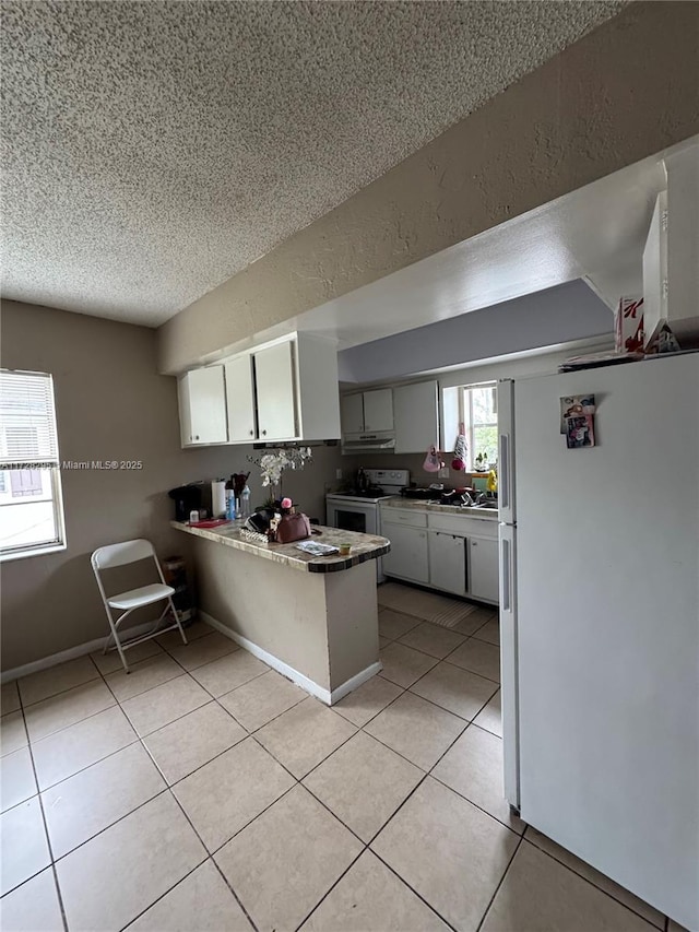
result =
[[[294,343],[277,343],[254,353],[259,439],[293,440],[298,436]]]

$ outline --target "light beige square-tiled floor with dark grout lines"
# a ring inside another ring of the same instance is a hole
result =
[[[3,932],[665,930],[503,802],[493,611],[379,625],[332,709],[201,623],[3,686]]]

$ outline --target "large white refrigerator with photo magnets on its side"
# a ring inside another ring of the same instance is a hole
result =
[[[502,381],[498,422],[506,797],[697,930],[699,354]]]

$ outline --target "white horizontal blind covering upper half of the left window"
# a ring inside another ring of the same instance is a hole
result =
[[[54,379],[46,373],[0,370],[0,468],[58,465]]]

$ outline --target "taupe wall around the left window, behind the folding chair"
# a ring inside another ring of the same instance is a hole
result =
[[[63,471],[68,550],[0,565],[2,670],[106,634],[90,554],[150,538],[161,556],[187,550],[173,531],[167,489],[183,482],[252,471],[252,504],[263,500],[250,447],[181,450],[175,379],[156,371],[155,331],[14,302],[2,303],[7,368],[54,375],[62,460],[142,460],[139,472]],[[315,448],[315,462],[288,474],[284,491],[324,520],[324,487],[337,449]]]

